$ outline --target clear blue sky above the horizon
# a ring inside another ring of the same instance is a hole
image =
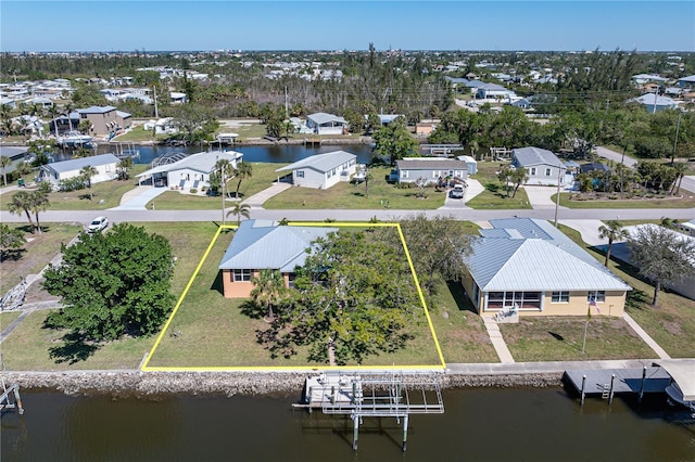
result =
[[[1,51],[695,51],[695,1],[0,0]]]

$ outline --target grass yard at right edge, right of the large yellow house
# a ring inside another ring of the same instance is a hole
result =
[[[581,240],[578,231],[560,224],[572,241],[603,261],[604,254]],[[695,357],[695,300],[672,292],[659,294],[659,306],[653,307],[654,286],[639,278],[634,267],[611,259],[609,268],[633,290],[628,292],[627,311],[673,358]],[[589,346],[587,346],[589,348]],[[647,358],[655,357],[652,352]]]

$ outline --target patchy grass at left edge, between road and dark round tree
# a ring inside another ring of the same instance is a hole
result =
[[[37,274],[61,252],[61,244],[67,244],[83,227],[79,224],[41,223],[43,232],[31,234],[28,224],[10,224],[25,232],[27,243],[17,251],[5,251],[0,261],[0,293],[4,295],[20,283],[21,278]],[[31,299],[27,299],[31,301]]]

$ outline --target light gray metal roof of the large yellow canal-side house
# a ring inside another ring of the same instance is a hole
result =
[[[547,221],[490,220],[466,264],[483,291],[629,291],[628,284]]]

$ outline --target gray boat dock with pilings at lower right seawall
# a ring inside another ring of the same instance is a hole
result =
[[[571,385],[581,396],[584,403],[585,396],[599,395],[604,399],[612,400],[615,394],[665,393],[671,383],[671,376],[662,368],[644,367],[642,369],[591,369],[569,370],[563,374],[563,382]]]

